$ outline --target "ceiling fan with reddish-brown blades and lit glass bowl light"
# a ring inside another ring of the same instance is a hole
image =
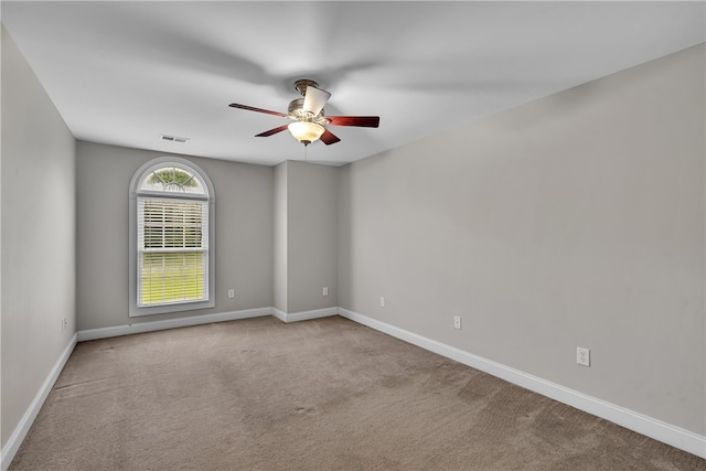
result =
[[[323,143],[330,146],[340,141],[333,132],[328,130],[325,126],[356,126],[365,128],[376,128],[379,125],[378,116],[324,116],[323,106],[327,104],[331,94],[319,88],[319,84],[314,81],[302,78],[295,82],[295,88],[303,96],[289,103],[288,113],[271,111],[269,109],[255,108],[253,106],[239,105],[232,103],[228,106],[233,108],[247,109],[249,111],[265,113],[267,115],[281,116],[291,119],[295,122],[282,125],[277,128],[260,132],[255,137],[269,137],[289,129],[291,135],[299,142],[309,146],[317,139],[321,139]]]

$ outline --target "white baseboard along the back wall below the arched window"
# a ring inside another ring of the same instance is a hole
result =
[[[236,321],[239,319],[271,315],[272,308],[245,309],[242,311],[220,312],[216,314],[190,315],[188,318],[165,319],[160,321],[138,322],[115,325],[111,328],[88,329],[78,331],[78,342],[129,335],[132,333],[154,332],[159,330],[186,328],[191,325],[211,324],[213,322]]]

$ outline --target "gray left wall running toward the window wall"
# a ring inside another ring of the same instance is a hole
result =
[[[75,332],[76,141],[4,26],[1,69],[4,447]]]

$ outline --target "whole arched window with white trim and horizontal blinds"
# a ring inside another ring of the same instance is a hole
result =
[[[130,182],[130,317],[215,306],[213,185],[174,157]]]

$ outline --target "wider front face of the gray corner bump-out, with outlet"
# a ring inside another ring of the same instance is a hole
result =
[[[287,205],[288,312],[338,307],[338,169],[287,162]]]

